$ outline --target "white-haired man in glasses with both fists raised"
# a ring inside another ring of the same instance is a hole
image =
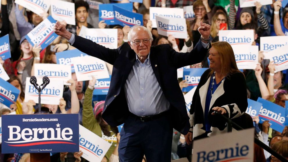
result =
[[[201,62],[210,48],[210,25],[200,22],[201,39],[191,52],[179,53],[169,44],[151,46],[152,33],[133,26],[128,43],[109,49],[68,32],[63,24],[54,32],[88,55],[113,65],[102,118],[112,127],[124,123],[120,161],[170,161],[173,128],[190,129],[177,69]]]

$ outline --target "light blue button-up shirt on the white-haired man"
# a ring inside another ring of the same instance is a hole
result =
[[[129,111],[137,116],[150,116],[167,111],[170,103],[165,98],[150,63],[150,53],[142,62],[136,60],[125,83]]]

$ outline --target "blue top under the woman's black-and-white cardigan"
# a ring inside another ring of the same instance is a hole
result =
[[[204,111],[204,120],[205,120],[206,132],[209,132],[210,128],[211,128],[211,125],[210,125],[209,120],[208,120],[208,113],[209,113],[209,108],[210,108],[210,101],[212,98],[212,96],[211,96],[212,81],[213,81],[213,76],[211,76],[210,84],[209,84],[208,91],[206,94],[205,111]],[[214,79],[212,94],[214,94],[214,92],[216,91],[216,89],[218,88],[218,86],[221,83],[222,83],[222,81],[220,81],[218,84],[216,84],[216,79]]]

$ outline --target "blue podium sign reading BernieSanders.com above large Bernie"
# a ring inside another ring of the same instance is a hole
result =
[[[79,151],[79,114],[2,116],[2,153]]]

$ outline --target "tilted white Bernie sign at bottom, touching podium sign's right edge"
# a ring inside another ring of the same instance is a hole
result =
[[[79,124],[79,150],[82,157],[88,161],[101,162],[111,143]]]

